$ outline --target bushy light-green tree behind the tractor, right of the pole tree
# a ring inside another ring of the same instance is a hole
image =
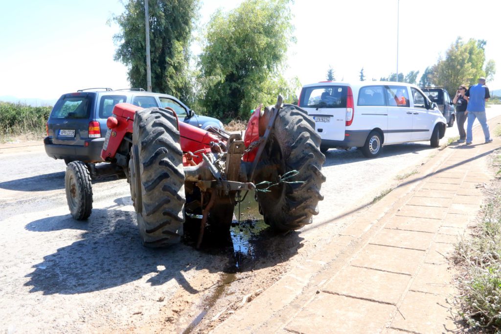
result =
[[[228,13],[216,12],[200,55],[207,113],[248,118],[259,103],[274,104],[278,93],[293,102],[298,80],[282,76],[292,32],[289,0],[245,0]]]

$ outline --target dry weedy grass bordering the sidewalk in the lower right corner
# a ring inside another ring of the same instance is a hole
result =
[[[499,185],[499,183],[497,183]],[[501,188],[482,208],[473,236],[456,244],[459,314],[471,327],[501,329]]]

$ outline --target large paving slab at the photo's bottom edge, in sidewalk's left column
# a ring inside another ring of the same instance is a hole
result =
[[[377,333],[394,310],[393,305],[323,292],[285,328],[305,334]]]

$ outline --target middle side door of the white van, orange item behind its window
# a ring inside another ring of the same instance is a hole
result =
[[[385,143],[405,143],[411,140],[412,110],[407,86],[384,86],[388,111]]]

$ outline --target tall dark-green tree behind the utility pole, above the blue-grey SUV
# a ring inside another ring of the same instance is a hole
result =
[[[124,13],[113,17],[121,28],[114,36],[114,59],[128,67],[132,87],[146,88],[144,0],[124,6]],[[149,0],[148,6],[152,90],[190,100],[189,46],[198,0]]]

